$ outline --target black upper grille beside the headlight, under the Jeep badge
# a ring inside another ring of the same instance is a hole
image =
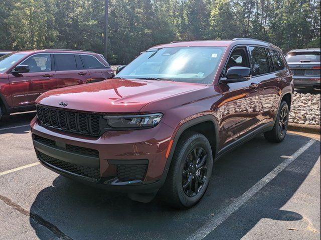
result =
[[[101,132],[101,115],[66,111],[37,105],[37,116],[40,124],[45,126],[95,136]]]

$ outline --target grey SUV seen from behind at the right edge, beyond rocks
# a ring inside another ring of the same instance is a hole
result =
[[[290,50],[285,59],[293,72],[295,88],[320,89],[320,48]]]

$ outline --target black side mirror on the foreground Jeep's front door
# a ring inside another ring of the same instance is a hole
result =
[[[221,78],[221,81],[223,83],[247,81],[251,78],[251,76],[251,68],[244,66],[232,66],[227,69],[226,78]]]

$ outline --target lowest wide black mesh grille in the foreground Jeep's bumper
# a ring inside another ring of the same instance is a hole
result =
[[[92,168],[88,166],[83,166],[83,165],[78,165],[78,164],[73,164],[69,163],[54,157],[51,157],[45,153],[42,153],[38,151],[39,158],[44,161],[45,163],[48,163],[50,165],[53,165],[59,169],[85,176],[85,177],[90,177],[93,179],[98,180],[100,178],[100,170],[98,168]]]

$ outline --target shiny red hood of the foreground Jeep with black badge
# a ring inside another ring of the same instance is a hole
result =
[[[81,111],[137,113],[151,101],[205,86],[166,80],[109,79],[47,91],[36,102]],[[65,104],[59,105],[61,102]]]

